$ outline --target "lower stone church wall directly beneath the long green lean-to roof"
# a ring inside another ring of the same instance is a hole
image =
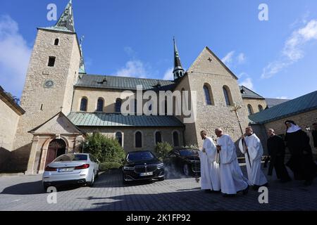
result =
[[[123,134],[123,148],[125,152],[134,150],[154,150],[155,132],[161,131],[162,141],[167,141],[173,146],[173,131],[178,131],[180,146],[183,146],[183,130],[180,127],[80,127],[82,131],[92,134],[93,132],[100,132],[109,137],[115,137],[116,132]],[[141,131],[142,133],[142,148],[135,148],[135,133]]]

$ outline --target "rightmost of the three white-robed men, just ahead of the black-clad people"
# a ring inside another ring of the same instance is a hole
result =
[[[248,178],[254,189],[257,190],[261,186],[268,186],[268,180],[261,170],[263,147],[260,139],[253,133],[251,127],[245,129],[245,134],[239,142],[239,148],[242,154],[244,154]]]

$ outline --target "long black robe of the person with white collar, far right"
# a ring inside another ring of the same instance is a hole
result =
[[[312,180],[316,174],[316,164],[313,162],[309,136],[304,131],[299,130],[287,133],[285,141],[291,153],[290,161],[286,165],[294,172],[294,178]]]

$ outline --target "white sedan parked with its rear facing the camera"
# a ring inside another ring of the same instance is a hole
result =
[[[42,183],[49,186],[64,184],[87,184],[92,186],[99,174],[99,161],[90,154],[66,154],[46,166]]]

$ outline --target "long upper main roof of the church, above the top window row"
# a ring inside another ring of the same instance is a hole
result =
[[[123,89],[137,90],[137,85],[142,85],[143,90],[167,91],[173,90],[175,82],[165,79],[144,79],[135,77],[116,77],[102,75],[85,75],[80,74],[77,87],[91,87],[98,89]],[[161,86],[161,88],[159,88]]]

